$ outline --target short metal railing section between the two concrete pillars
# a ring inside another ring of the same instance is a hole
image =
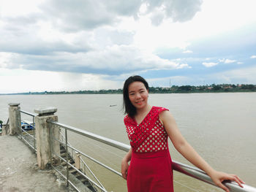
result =
[[[32,134],[30,134],[30,131],[26,131],[22,128],[22,125],[20,124],[20,131],[21,131],[21,134],[20,134],[20,138],[21,140],[23,140],[24,142],[26,142],[27,145],[29,145],[29,147],[31,147],[33,150],[34,150],[34,153],[37,153],[37,147],[36,147],[36,134],[35,134],[35,123],[34,123],[34,117],[36,115],[30,113],[30,112],[25,112],[23,110],[20,110],[20,113],[23,113],[25,115],[29,115],[31,118],[32,118],[32,123],[28,122],[27,120],[21,120],[20,119],[20,123],[26,123],[28,124],[29,126],[33,127],[32,128]],[[21,115],[21,114],[20,114]],[[21,117],[20,117],[21,118]],[[28,136],[28,137],[26,137]],[[30,139],[29,139],[30,138]],[[32,139],[32,142],[31,142],[31,139]]]

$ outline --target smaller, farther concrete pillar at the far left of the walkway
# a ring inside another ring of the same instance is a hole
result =
[[[9,121],[10,121],[10,135],[20,134],[20,104],[9,104]]]

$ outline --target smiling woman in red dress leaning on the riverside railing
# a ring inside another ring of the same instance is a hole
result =
[[[121,174],[127,180],[128,192],[173,191],[173,169],[167,144],[174,147],[192,164],[202,169],[225,191],[223,180],[244,183],[234,174],[217,172],[209,166],[178,131],[176,121],[163,107],[148,104],[148,82],[138,75],[124,82],[124,124],[131,149],[121,161]],[[130,161],[130,164],[129,164]]]

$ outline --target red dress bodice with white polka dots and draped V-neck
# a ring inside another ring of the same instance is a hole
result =
[[[124,117],[132,150],[137,153],[167,150],[168,135],[159,120],[159,113],[165,110],[163,107],[152,107],[140,124],[136,123],[135,118]]]

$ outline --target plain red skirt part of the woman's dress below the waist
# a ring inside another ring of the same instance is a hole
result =
[[[127,172],[128,192],[173,192],[173,169],[169,150],[132,152]]]

